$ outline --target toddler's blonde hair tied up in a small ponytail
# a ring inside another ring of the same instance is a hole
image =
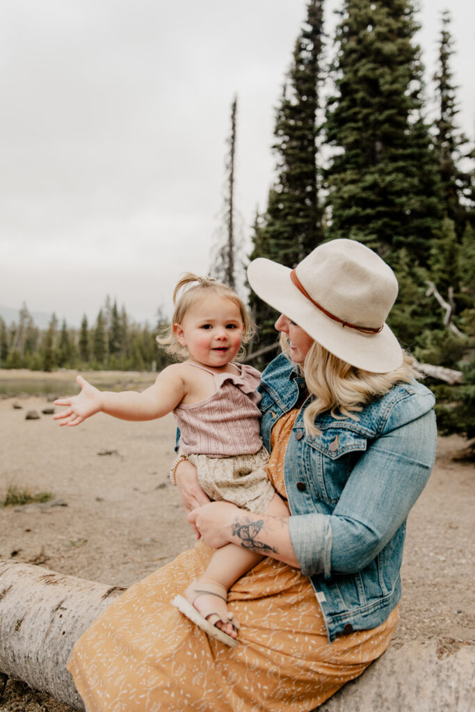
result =
[[[243,300],[231,287],[216,281],[212,277],[198,277],[192,272],[185,272],[180,276],[179,282],[174,288],[172,323],[165,328],[162,334],[157,336],[157,342],[165,348],[165,351],[177,357],[179,360],[187,359],[189,353],[187,347],[182,346],[177,340],[174,333],[174,325],[181,324],[189,308],[199,303],[200,299],[209,294],[229,299],[229,301],[233,302],[236,307],[239,308],[242,323],[244,324],[242,344],[249,343],[256,332],[254,320],[248,313]],[[236,360],[242,359],[244,354],[244,348],[241,346],[236,355]]]

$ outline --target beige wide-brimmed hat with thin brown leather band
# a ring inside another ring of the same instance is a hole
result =
[[[247,274],[264,302],[341,360],[373,373],[402,364],[400,344],[385,323],[397,297],[395,273],[360,242],[321,244],[294,271],[259,257]]]

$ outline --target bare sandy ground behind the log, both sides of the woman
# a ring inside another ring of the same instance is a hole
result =
[[[44,397],[0,399],[0,498],[14,485],[51,491],[54,504],[0,508],[0,557],[127,587],[192,545],[167,478],[171,416],[129,423],[100,414],[60,428],[45,407]],[[40,419],[26,420],[30,409]],[[439,439],[434,472],[409,516],[392,645],[474,641],[474,466],[453,459],[465,444]],[[0,681],[1,712],[67,710],[13,681],[2,690]]]

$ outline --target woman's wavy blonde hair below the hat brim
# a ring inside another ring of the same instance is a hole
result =
[[[288,339],[281,334],[281,347],[290,357]],[[351,366],[331,354],[317,341],[313,342],[306,359],[300,365],[310,394],[314,399],[303,412],[303,422],[309,435],[319,435],[315,418],[327,410],[336,419],[357,420],[357,413],[375,397],[381,397],[397,383],[409,383],[415,377],[414,359],[404,350],[399,368],[389,373],[371,373]]]

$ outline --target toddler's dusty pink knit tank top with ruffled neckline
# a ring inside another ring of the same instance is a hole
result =
[[[174,417],[180,429],[180,449],[184,454],[209,457],[230,457],[258,452],[260,435],[261,395],[256,388],[261,374],[252,366],[233,364],[241,372],[214,373],[199,364],[214,377],[216,392],[198,403],[180,404]]]

